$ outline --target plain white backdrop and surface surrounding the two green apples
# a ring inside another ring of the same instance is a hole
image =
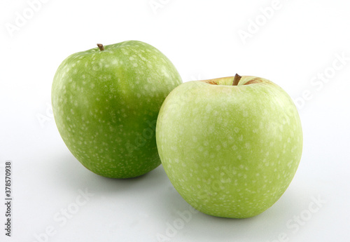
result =
[[[33,1],[0,1],[0,241],[350,240],[349,1],[46,0],[31,7]],[[16,23],[19,15],[25,22]],[[58,65],[96,43],[131,39],[165,53],[183,81],[238,73],[270,79],[290,94],[304,151],[274,206],[246,220],[189,216],[162,166],[112,180],[70,154],[50,109]],[[3,230],[7,160],[13,162],[11,238]],[[86,189],[91,196],[84,200]]]

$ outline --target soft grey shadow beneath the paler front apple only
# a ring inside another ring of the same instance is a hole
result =
[[[206,241],[208,238],[213,238],[213,241],[273,241],[281,233],[288,234],[286,222],[291,218],[290,211],[293,210],[293,200],[296,196],[295,191],[286,191],[281,199],[265,212],[244,219],[214,217],[197,210],[188,215],[186,211],[194,209],[176,191],[165,192],[164,202],[160,206],[167,206],[169,210],[174,211],[168,213],[167,217],[162,217],[162,220],[169,224],[183,220],[181,213],[190,216],[190,219],[184,222],[183,229],[176,231],[172,238],[174,241],[181,241],[182,237],[186,237],[188,241]]]

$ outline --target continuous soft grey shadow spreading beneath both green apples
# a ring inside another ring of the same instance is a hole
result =
[[[158,220],[162,229],[159,233],[166,236],[167,224],[183,219],[181,213],[194,209],[174,189],[162,166],[145,175],[129,179],[113,179],[102,177],[87,170],[71,154],[55,158],[55,166],[51,166],[52,180],[63,189],[76,191],[85,189],[95,194],[97,199],[107,199],[108,204],[123,196],[133,196],[142,201],[138,209]],[[190,220],[177,229],[172,241],[273,241],[279,234],[288,232],[286,222],[293,216],[293,201],[297,197],[297,189],[288,188],[285,194],[271,208],[255,217],[231,219],[213,217],[195,211],[190,212]],[[111,205],[111,209],[117,205]],[[188,213],[187,213],[188,214]]]

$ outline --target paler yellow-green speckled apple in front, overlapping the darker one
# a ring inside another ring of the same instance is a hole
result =
[[[286,191],[302,155],[302,127],[288,94],[267,79],[234,76],[181,84],[156,127],[175,189],[217,217],[253,217]]]

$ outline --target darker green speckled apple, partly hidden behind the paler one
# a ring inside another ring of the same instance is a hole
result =
[[[70,55],[52,83],[52,110],[64,143],[92,172],[138,177],[160,165],[155,123],[182,83],[170,60],[141,41]]]

